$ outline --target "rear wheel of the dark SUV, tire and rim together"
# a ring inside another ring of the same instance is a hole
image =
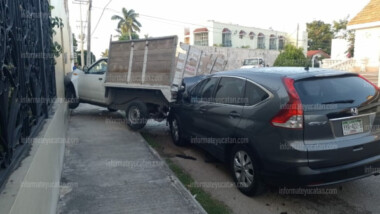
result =
[[[248,196],[260,195],[265,191],[257,162],[252,150],[247,146],[236,146],[230,160],[232,176],[237,188]]]

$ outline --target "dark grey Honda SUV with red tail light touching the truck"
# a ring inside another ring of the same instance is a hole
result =
[[[184,79],[171,106],[173,141],[225,161],[244,194],[379,174],[380,93],[360,75],[259,68],[197,78]]]

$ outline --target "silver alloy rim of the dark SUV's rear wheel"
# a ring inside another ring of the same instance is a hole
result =
[[[247,188],[254,182],[252,160],[245,151],[238,151],[234,156],[234,173],[238,187]]]

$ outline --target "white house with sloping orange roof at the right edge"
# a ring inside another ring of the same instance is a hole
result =
[[[355,30],[354,58],[366,71],[378,71],[380,66],[380,0],[371,0],[349,23]]]

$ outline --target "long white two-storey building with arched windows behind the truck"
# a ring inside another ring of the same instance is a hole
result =
[[[199,46],[223,46],[234,48],[250,48],[265,50],[282,50],[286,43],[295,45],[296,38],[291,38],[286,32],[272,29],[246,27],[237,24],[227,24],[208,21],[195,29],[185,29],[184,42]],[[298,46],[307,51],[307,33],[303,32],[298,39]]]

